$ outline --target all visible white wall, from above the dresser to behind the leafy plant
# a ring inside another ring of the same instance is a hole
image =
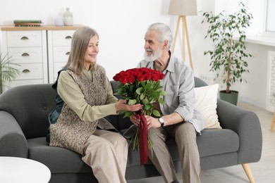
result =
[[[0,25],[12,25],[16,19],[39,19],[45,25],[54,25],[54,18],[71,8],[74,24],[93,27],[99,33],[98,63],[106,69],[109,79],[119,72],[133,68],[143,58],[144,34],[148,25],[161,22],[176,29],[176,15],[169,15],[169,0],[0,0]],[[246,0],[254,20],[247,34],[261,34],[264,17],[264,1]],[[197,0],[197,11],[232,11],[238,5],[237,0]],[[203,56],[203,51],[212,46],[204,39],[206,25],[201,25],[202,13],[188,16],[188,33],[190,37],[193,67],[196,76],[214,78],[209,72],[209,57]],[[181,30],[179,30],[181,33]],[[178,35],[175,54],[181,58],[181,35]],[[265,107],[267,76],[267,49],[274,49],[258,44],[248,44],[247,49],[255,53],[250,61],[250,74],[247,80],[250,84],[236,84],[233,89],[240,90],[240,101],[248,101],[256,106]],[[186,61],[189,61],[186,51]],[[188,63],[188,62],[187,62]],[[189,63],[188,63],[189,64]],[[259,71],[259,68],[263,71]],[[258,92],[255,92],[258,89]]]

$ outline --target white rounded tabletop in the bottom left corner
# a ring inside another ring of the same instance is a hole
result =
[[[0,156],[1,183],[47,183],[50,178],[49,168],[38,161]]]

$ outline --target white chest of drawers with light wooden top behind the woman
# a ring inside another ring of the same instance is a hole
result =
[[[18,63],[20,75],[6,83],[10,87],[25,84],[52,83],[66,64],[73,32],[83,25],[40,27],[0,26],[0,53],[8,53]]]

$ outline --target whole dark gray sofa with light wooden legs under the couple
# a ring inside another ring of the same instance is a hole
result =
[[[117,83],[111,81],[113,90]],[[195,87],[207,85],[195,77]],[[259,118],[251,111],[218,99],[216,109],[221,130],[202,130],[197,137],[202,170],[243,165],[250,182],[247,163],[259,161],[262,154],[262,130]],[[48,146],[45,136],[48,114],[55,107],[51,84],[13,87],[0,95],[0,156],[16,156],[37,160],[51,170],[50,182],[97,182],[89,166],[73,151]],[[118,130],[132,123],[121,115],[107,118]],[[181,172],[176,143],[167,141],[176,170]],[[129,148],[126,179],[159,176],[152,163],[140,166],[139,152]]]

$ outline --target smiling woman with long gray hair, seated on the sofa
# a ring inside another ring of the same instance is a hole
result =
[[[97,65],[99,35],[90,27],[75,31],[68,63],[53,84],[56,108],[49,114],[50,146],[82,155],[99,182],[126,182],[128,142],[104,119],[120,111],[138,111],[116,99],[102,66]]]

